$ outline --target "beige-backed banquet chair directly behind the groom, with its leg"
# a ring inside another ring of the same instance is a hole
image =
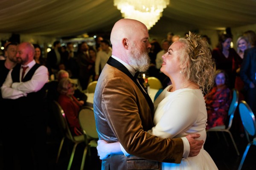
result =
[[[84,141],[86,143],[81,162],[81,170],[83,170],[87,151],[88,155],[90,156],[90,147],[97,147],[97,140],[99,138],[96,130],[96,122],[94,118],[93,108],[84,106],[79,112],[79,122],[83,130]]]

